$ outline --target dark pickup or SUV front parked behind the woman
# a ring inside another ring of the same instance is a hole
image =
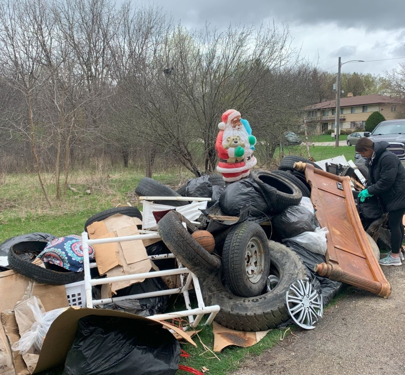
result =
[[[373,142],[386,141],[389,143],[387,150],[399,157],[405,166],[405,119],[387,120],[380,122],[372,133],[365,132]]]

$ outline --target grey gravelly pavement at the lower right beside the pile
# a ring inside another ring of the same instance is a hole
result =
[[[403,375],[405,266],[383,270],[392,288],[387,300],[350,288],[314,330],[295,329],[299,338],[248,358],[233,375]]]

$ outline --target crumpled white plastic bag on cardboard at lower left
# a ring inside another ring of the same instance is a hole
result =
[[[42,314],[42,311],[38,304],[38,299],[35,297],[33,304],[28,303],[34,313],[35,322],[31,326],[31,330],[23,333],[20,340],[18,340],[12,346],[13,350],[18,350],[20,354],[26,354],[32,346],[38,351],[41,351],[42,344],[45,336],[49,330],[49,327],[53,321],[66,310],[66,308],[55,309]]]

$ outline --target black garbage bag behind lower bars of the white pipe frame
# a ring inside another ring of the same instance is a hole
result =
[[[142,283],[132,284],[117,291],[117,297],[131,296],[140,293],[158,292],[167,290],[161,277],[145,278]],[[113,298],[114,299],[114,298]],[[149,297],[140,300],[114,301],[105,304],[104,309],[125,311],[140,316],[151,316],[164,313],[168,308],[169,296]]]

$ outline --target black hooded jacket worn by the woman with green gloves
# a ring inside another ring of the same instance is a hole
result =
[[[399,158],[387,150],[388,142],[374,142],[375,157],[369,166],[367,191],[377,195],[385,212],[405,208],[405,168]],[[370,163],[371,159],[368,159]]]

